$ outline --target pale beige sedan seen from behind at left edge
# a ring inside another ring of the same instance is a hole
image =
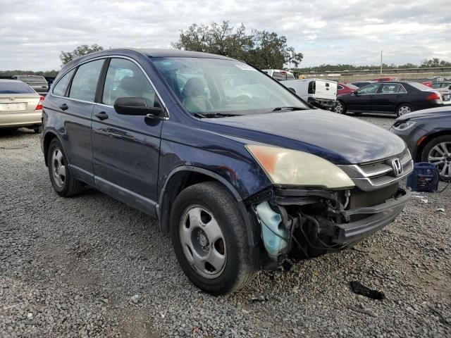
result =
[[[0,128],[29,127],[42,132],[42,103],[32,87],[18,80],[0,80]]]

